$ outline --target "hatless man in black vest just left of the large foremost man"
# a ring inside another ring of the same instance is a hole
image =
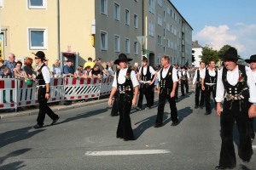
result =
[[[218,70],[215,70],[215,61],[213,59],[209,60],[208,68],[202,72],[201,75],[201,90],[205,91],[205,100],[206,100],[206,113],[205,115],[210,115],[212,113],[211,108],[211,93],[212,98],[214,100],[216,106],[216,83],[217,83],[217,76]]]

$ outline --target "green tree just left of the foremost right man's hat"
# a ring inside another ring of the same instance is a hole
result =
[[[212,47],[209,47],[209,45],[206,45],[202,48],[201,54],[201,60],[204,61],[206,64],[209,62],[210,59],[213,59],[215,63],[218,62],[217,50],[212,49]]]

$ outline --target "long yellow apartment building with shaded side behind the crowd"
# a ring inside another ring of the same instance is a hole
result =
[[[71,58],[76,67],[88,57],[109,61],[125,53],[140,64],[137,37],[147,36],[150,65],[162,54],[191,64],[192,28],[169,0],[0,0],[0,14],[4,59],[42,50],[49,65]]]

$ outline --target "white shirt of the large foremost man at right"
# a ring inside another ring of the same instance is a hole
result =
[[[222,102],[224,99],[224,84],[222,82],[222,72],[223,68],[218,71],[218,79],[217,79],[217,90],[216,90],[216,102]],[[247,85],[249,87],[249,93],[250,103],[256,103],[256,86],[255,81],[253,80],[253,71],[246,66],[246,72],[247,72]],[[236,69],[233,71],[227,71],[227,81],[230,83],[230,85],[235,86],[238,82],[239,77],[239,69],[238,65],[236,66]]]

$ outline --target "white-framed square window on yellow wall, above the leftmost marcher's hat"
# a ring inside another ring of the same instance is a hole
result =
[[[28,28],[29,50],[48,48],[48,31],[46,28]]]

